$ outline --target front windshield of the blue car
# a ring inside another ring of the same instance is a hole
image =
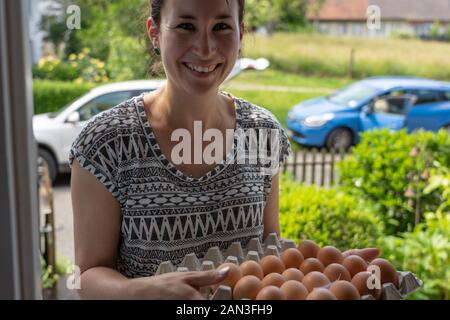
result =
[[[362,83],[356,83],[331,94],[327,98],[335,104],[355,108],[376,93],[377,89]]]

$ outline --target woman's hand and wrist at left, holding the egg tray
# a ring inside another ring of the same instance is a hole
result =
[[[130,280],[132,299],[146,300],[205,300],[199,292],[225,279],[229,267],[220,270],[174,272]]]

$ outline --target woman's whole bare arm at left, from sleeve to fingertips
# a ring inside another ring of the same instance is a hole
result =
[[[75,160],[72,167],[75,263],[83,299],[203,299],[198,288],[223,280],[227,270],[128,279],[116,267],[122,215],[117,200]]]

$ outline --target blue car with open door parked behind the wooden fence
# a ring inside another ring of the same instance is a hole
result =
[[[375,77],[289,112],[292,140],[314,147],[348,148],[376,128],[450,132],[450,83],[412,77]]]

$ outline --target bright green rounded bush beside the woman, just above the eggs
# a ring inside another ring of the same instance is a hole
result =
[[[280,227],[282,236],[341,250],[376,245],[382,223],[357,198],[334,189],[300,185],[288,176],[281,179]]]

